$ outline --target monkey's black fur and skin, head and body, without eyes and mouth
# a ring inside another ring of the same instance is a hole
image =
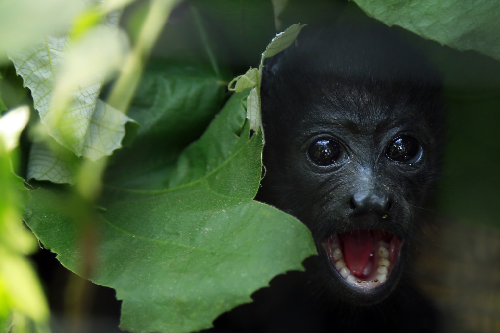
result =
[[[275,278],[253,304],[215,324],[246,332],[437,331],[432,306],[403,272],[439,171],[440,91],[425,60],[381,24],[306,27],[295,44],[265,62],[265,176],[257,199],[302,221],[319,256],[305,262],[305,273]],[[418,140],[417,162],[387,158],[398,135]],[[307,149],[325,136],[348,157],[320,167]],[[353,204],[359,193],[370,198],[365,206]],[[356,229],[386,230],[403,242],[399,264],[375,290],[349,288],[320,246]]]

